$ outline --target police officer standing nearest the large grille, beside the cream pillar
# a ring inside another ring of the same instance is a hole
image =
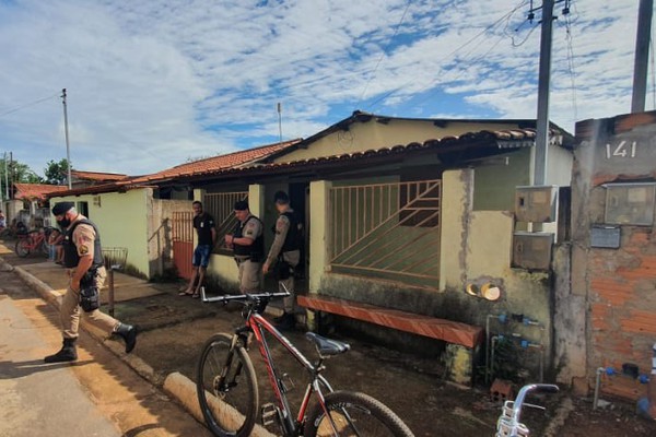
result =
[[[284,298],[284,312],[274,321],[280,329],[293,329],[296,324],[294,318],[294,303],[296,299],[294,294],[294,268],[298,265],[301,260],[301,224],[290,205],[290,198],[286,192],[276,192],[273,200],[280,215],[273,226],[276,237],[262,265],[262,272],[267,274],[271,265],[276,263],[278,288],[280,292],[289,291],[291,296]]]

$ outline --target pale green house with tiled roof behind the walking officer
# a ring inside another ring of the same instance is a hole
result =
[[[127,263],[147,277],[162,274],[173,265],[176,255],[173,246],[180,238],[184,240],[180,246],[185,247],[186,252],[177,251],[177,267],[180,270],[189,269],[191,255],[188,247],[194,238],[194,192],[188,184],[177,182],[176,177],[192,177],[254,163],[295,141],[199,160],[147,176],[118,178],[122,175],[116,175],[118,180],[66,189],[50,196],[50,202],[75,202],[78,210],[98,225],[103,246],[127,249]],[[91,174],[84,172],[87,179]],[[174,216],[178,218],[173,220]]]

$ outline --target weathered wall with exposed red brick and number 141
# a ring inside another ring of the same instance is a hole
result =
[[[557,365],[582,392],[598,368],[648,375],[656,342],[656,111],[576,123],[571,281],[555,295],[566,335]],[[571,286],[567,286],[571,283]],[[601,392],[637,399],[646,386],[602,375]],[[654,377],[654,375],[652,375]]]

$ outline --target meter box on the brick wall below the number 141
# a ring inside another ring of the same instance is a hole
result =
[[[605,222],[618,225],[654,224],[656,182],[606,184]]]

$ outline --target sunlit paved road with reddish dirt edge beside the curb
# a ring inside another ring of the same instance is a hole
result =
[[[44,364],[61,345],[58,314],[0,270],[0,437],[209,436],[104,345],[78,343],[75,364]]]

